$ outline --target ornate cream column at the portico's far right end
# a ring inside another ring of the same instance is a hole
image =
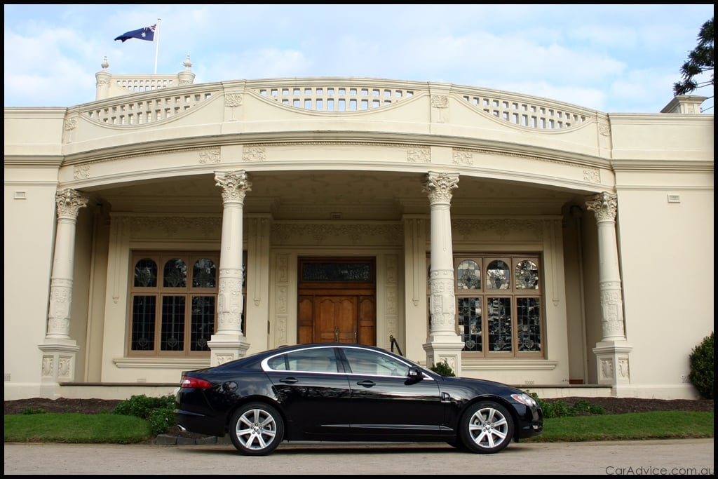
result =
[[[601,192],[586,202],[598,225],[598,280],[601,300],[603,338],[593,348],[597,359],[598,383],[620,386],[630,384],[629,353],[623,320],[623,293],[618,267],[616,241],[617,195]]]

